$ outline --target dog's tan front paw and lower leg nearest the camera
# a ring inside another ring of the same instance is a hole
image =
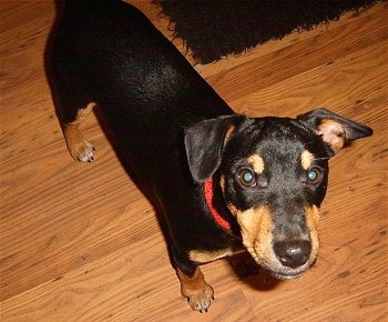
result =
[[[194,311],[207,312],[211,301],[214,300],[214,291],[206,283],[200,266],[190,260],[177,261],[175,256],[175,269],[181,281],[182,295],[187,298]]]

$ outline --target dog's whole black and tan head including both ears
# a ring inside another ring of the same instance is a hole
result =
[[[252,256],[274,276],[292,279],[317,256],[328,159],[371,133],[325,109],[296,119],[228,115],[186,129],[185,148],[196,182],[218,180]]]

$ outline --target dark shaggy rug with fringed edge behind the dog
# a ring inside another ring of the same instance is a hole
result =
[[[154,0],[198,63],[309,30],[377,0]]]

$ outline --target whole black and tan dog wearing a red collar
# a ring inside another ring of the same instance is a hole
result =
[[[325,109],[236,114],[145,16],[114,0],[67,2],[51,67],[71,155],[94,159],[79,124],[99,105],[163,209],[193,310],[213,298],[198,265],[236,250],[278,279],[314,264],[328,159],[370,128]]]

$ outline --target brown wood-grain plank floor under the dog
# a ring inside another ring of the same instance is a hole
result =
[[[131,2],[169,34],[150,1]],[[197,67],[238,112],[326,107],[375,130],[330,161],[316,265],[287,282],[204,265],[216,298],[204,314],[94,115],[95,162],[70,158],[44,72],[54,17],[51,1],[0,2],[1,321],[388,321],[388,2]]]

